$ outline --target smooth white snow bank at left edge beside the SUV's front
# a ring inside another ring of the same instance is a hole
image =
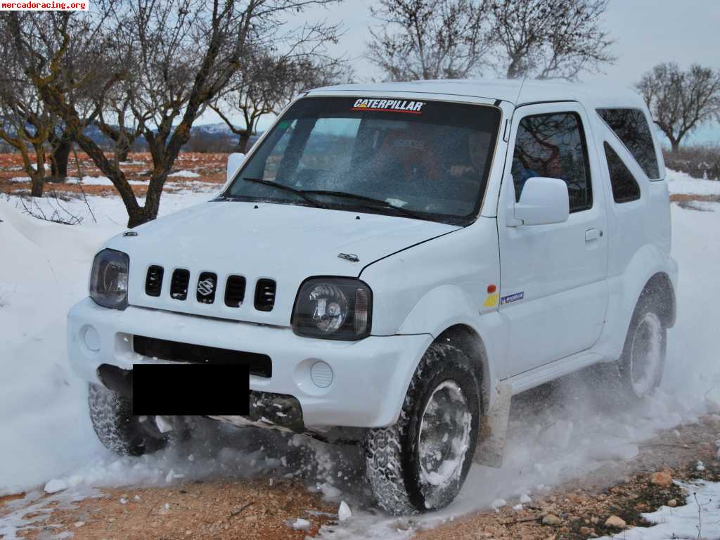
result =
[[[65,317],[86,295],[112,231],[34,220],[0,202],[0,495],[44,482],[98,449],[84,385],[66,361]]]

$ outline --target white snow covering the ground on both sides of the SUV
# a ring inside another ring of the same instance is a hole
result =
[[[672,171],[669,177],[671,192],[720,194],[720,182],[690,179]],[[165,194],[161,215],[211,197],[211,192]],[[40,204],[52,214],[58,202],[47,198]],[[4,433],[0,495],[37,486],[55,491],[162,485],[182,475],[213,474],[218,468],[242,477],[248,470],[271,463],[261,453],[246,456],[231,449],[222,449],[217,460],[172,454],[117,459],[96,441],[87,417],[86,388],[74,379],[66,362],[65,317],[68,307],[86,295],[94,253],[105,239],[125,229],[127,216],[115,198],[89,197],[88,204],[80,199],[62,204],[83,218],[81,225],[35,220],[24,215],[18,199],[12,197],[0,202],[0,431]],[[503,467],[473,466],[459,498],[441,513],[415,519],[415,525],[430,526],[494,502],[500,504],[501,499],[516,504],[523,495],[532,497],[608,461],[629,459],[637,453],[639,441],[654,431],[693,420],[707,410],[711,390],[720,388],[716,351],[720,204],[707,203],[706,210],[711,211],[672,206],[673,251],[680,264],[678,325],[670,330],[660,392],[637,410],[610,413],[595,409],[585,399],[588,389],[582,380],[569,377],[560,383],[562,393],[569,397],[562,406],[544,406],[530,398],[513,401]],[[294,438],[290,444],[304,443]],[[336,466],[339,458],[333,454],[336,450],[313,445],[325,482],[320,490],[333,498],[346,495],[342,493],[348,489],[343,473]],[[708,492],[717,489],[707,487]],[[353,497],[350,494],[348,500]],[[680,509],[673,512],[680,516]],[[713,516],[720,520],[720,510]],[[658,514],[658,519],[669,518]],[[398,530],[395,519],[355,508],[351,520],[325,533],[335,539],[410,534],[411,528]]]

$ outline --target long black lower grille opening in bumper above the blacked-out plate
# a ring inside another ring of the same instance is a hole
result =
[[[228,348],[193,345],[145,336],[133,336],[132,348],[136,353],[149,358],[191,364],[240,364],[248,366],[248,370],[253,375],[272,377],[272,361],[266,354],[232,351]]]

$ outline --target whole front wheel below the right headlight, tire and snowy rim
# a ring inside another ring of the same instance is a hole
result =
[[[377,502],[400,516],[444,508],[462,487],[477,444],[480,381],[462,351],[428,348],[394,426],[368,430],[366,468]]]

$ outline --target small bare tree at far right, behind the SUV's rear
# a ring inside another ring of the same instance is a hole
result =
[[[698,125],[720,120],[720,70],[693,64],[682,71],[676,63],[661,63],[636,86],[672,152]]]

